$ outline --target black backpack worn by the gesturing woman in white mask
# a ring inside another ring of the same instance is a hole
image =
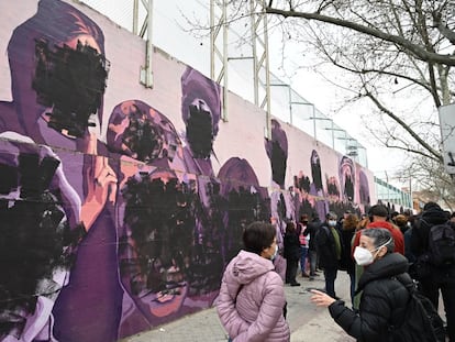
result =
[[[404,315],[395,317],[389,327],[391,341],[395,342],[444,342],[444,321],[430,299],[417,289],[415,284],[404,275],[395,277],[409,291]]]

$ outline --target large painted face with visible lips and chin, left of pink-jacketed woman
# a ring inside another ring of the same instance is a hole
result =
[[[130,177],[122,189],[127,230],[122,279],[133,298],[148,306],[151,318],[176,312],[189,288],[195,185],[155,169]]]

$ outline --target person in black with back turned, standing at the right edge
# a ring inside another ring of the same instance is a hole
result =
[[[447,320],[447,334],[450,341],[455,341],[455,264],[447,266],[435,266],[426,261],[429,252],[430,229],[435,224],[442,224],[450,220],[451,213],[444,211],[435,202],[428,202],[423,212],[412,228],[411,252],[415,256],[414,269],[426,269],[428,272],[414,272],[413,276],[420,283],[420,290],[428,297],[437,309],[440,290],[444,301],[445,316]],[[422,267],[419,267],[422,266]],[[417,266],[417,267],[415,267]]]

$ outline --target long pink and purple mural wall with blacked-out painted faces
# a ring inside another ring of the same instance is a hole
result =
[[[0,341],[115,341],[211,306],[243,227],[360,212],[373,175],[87,7],[0,3]]]

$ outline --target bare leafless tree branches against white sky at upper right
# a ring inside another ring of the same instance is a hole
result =
[[[266,12],[284,36],[347,75],[349,101],[369,100],[364,117],[380,122],[367,125],[370,134],[411,155],[403,169],[413,174],[399,173],[452,201],[437,108],[454,96],[455,1],[268,1]]]

